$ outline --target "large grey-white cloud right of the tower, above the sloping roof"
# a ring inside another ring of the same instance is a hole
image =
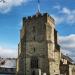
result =
[[[59,44],[61,51],[65,54],[70,55],[73,59],[75,58],[75,34],[68,36],[59,36]],[[75,59],[74,59],[75,60]]]

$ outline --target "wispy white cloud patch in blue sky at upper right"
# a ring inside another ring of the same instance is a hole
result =
[[[55,8],[55,6],[53,7]],[[75,9],[69,9],[66,7],[60,7],[60,9],[58,9],[56,7],[57,10],[57,16],[54,15],[54,18],[56,20],[56,24],[61,24],[61,23],[67,23],[69,25],[75,24]],[[60,14],[60,15],[59,15]]]

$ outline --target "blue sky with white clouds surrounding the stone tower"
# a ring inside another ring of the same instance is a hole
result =
[[[37,12],[37,0],[0,1],[0,55],[17,57],[22,17]],[[40,0],[40,12],[48,12],[56,22],[61,51],[75,59],[75,1]]]

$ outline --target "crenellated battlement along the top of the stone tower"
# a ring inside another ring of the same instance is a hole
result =
[[[50,20],[51,20],[53,23],[55,22],[55,20],[54,20],[51,16],[49,16],[48,13],[44,13],[44,14],[36,13],[36,14],[33,15],[33,16],[23,17],[23,21],[27,22],[27,21],[30,21],[30,20],[32,20],[32,19],[37,19],[37,18],[39,18],[39,17],[49,17]]]

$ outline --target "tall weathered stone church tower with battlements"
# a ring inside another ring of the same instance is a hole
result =
[[[23,18],[17,75],[59,75],[60,46],[55,21],[47,13]]]

